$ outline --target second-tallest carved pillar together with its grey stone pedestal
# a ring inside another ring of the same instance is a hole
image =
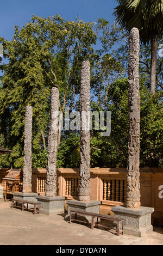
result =
[[[66,200],[70,218],[71,210],[83,210],[99,214],[101,201],[91,200],[90,177],[90,63],[85,60],[82,63],[80,84],[80,174],[78,182],[79,200]],[[91,216],[85,216],[91,223]]]

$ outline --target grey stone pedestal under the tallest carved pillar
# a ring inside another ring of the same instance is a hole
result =
[[[151,225],[151,214],[154,208],[143,207],[130,209],[125,206],[114,206],[111,208],[115,217],[124,218],[124,233],[135,236],[143,236],[153,231]]]

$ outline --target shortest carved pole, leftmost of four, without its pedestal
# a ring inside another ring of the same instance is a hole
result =
[[[27,106],[24,126],[23,193],[32,192],[32,114],[33,108]]]

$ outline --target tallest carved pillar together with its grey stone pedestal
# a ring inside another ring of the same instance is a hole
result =
[[[126,207],[115,206],[115,217],[124,219],[124,233],[146,235],[153,230],[151,214],[154,208],[140,206],[139,148],[140,148],[140,97],[139,97],[139,30],[132,28],[129,36],[129,138]],[[124,190],[125,190],[124,184]],[[125,198],[124,198],[125,199]]]

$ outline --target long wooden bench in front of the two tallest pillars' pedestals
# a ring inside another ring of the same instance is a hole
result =
[[[74,218],[72,218],[72,213],[74,213],[74,215],[75,215]],[[124,227],[124,220],[123,220],[123,218],[110,217],[110,216],[106,216],[106,215],[102,215],[102,214],[95,214],[95,212],[87,212],[87,211],[82,211],[82,210],[70,210],[70,224],[71,224],[72,220],[85,223],[84,221],[77,220],[77,214],[82,214],[82,215],[87,215],[87,216],[91,216],[92,217],[91,229],[93,229],[94,225],[95,225],[94,224],[94,218],[97,218],[96,225],[99,225],[98,224],[98,219],[116,222],[116,224],[117,224],[117,235],[120,235],[120,231],[121,231],[120,229],[121,229],[121,223],[122,223],[122,235],[123,235],[123,227]],[[105,228],[108,228],[108,227],[105,227]]]

